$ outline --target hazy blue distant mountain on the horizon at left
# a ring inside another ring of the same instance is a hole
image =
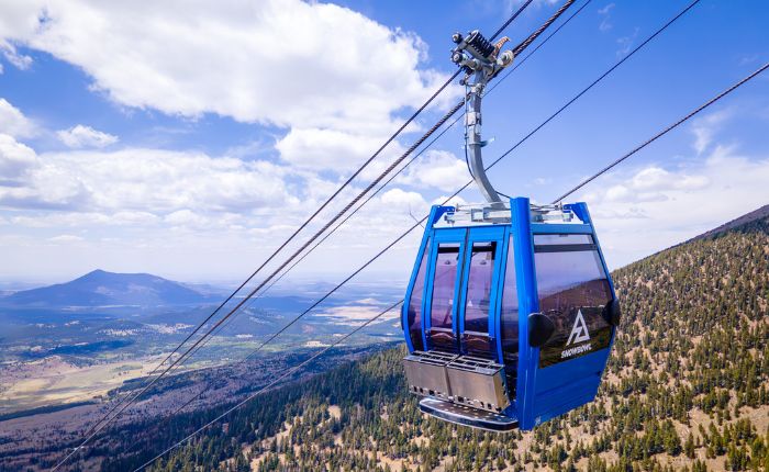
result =
[[[70,282],[24,290],[0,299],[14,306],[189,305],[211,299],[178,282],[148,273],[94,270]]]

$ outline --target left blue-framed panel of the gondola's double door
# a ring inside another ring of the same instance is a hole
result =
[[[435,232],[423,330],[427,350],[459,352],[457,306],[466,239],[465,228]]]

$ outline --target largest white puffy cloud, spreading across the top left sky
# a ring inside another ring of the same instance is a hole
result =
[[[315,167],[328,165],[327,156],[376,149],[372,139],[394,130],[398,112],[446,78],[423,67],[427,48],[415,34],[320,2],[179,0],[136,9],[30,0],[9,16],[0,20],[1,41],[82,68],[122,105],[287,127],[286,160]],[[335,154],[344,144],[356,151]]]

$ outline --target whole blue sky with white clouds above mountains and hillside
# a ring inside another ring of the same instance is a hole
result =
[[[591,1],[484,101],[487,159],[688,3]],[[0,280],[96,268],[243,278],[454,71],[453,32],[490,33],[517,4],[3,2]],[[535,1],[505,34],[517,43],[557,4]],[[768,19],[758,0],[702,0],[492,181],[557,196],[769,60]],[[347,199],[460,93],[442,95]],[[577,194],[610,266],[769,203],[768,125],[765,75]],[[465,183],[461,136],[446,133],[297,276],[335,280]],[[372,273],[404,278],[419,236]]]

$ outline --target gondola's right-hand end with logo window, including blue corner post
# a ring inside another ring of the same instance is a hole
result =
[[[583,204],[575,205],[581,224],[545,224],[530,222],[527,199],[512,203],[519,304],[528,313],[520,317],[519,419],[531,429],[595,397],[615,295]]]

